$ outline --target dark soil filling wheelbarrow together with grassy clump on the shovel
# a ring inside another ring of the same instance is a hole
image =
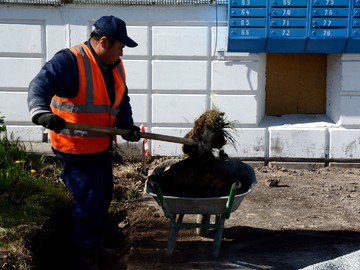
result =
[[[157,183],[164,195],[175,197],[227,196],[235,182],[239,187],[237,194],[247,192],[251,185],[248,176],[224,169],[228,156],[223,146],[234,142],[228,131],[232,127],[233,123],[226,119],[224,112],[216,108],[204,112],[185,136],[197,142],[192,146],[183,145],[188,158],[168,163],[159,173],[154,171],[149,181]]]

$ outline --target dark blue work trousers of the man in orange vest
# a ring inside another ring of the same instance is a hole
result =
[[[112,159],[109,152],[95,158],[63,159],[61,173],[73,196],[73,239],[82,248],[101,244],[113,194]]]

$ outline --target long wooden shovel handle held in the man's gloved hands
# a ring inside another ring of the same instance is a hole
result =
[[[125,135],[129,132],[129,130],[126,130],[126,129],[100,127],[100,126],[92,126],[92,125],[86,125],[86,124],[75,124],[75,123],[69,123],[69,122],[66,123],[65,128],[70,129],[70,130],[100,132],[100,133],[105,133],[105,134],[110,134],[110,135]],[[195,144],[194,140],[190,139],[190,138],[173,137],[173,136],[156,134],[156,133],[140,132],[140,136],[141,136],[141,138],[150,139],[150,140],[174,142],[174,143],[181,143],[181,144],[186,144],[186,145]]]

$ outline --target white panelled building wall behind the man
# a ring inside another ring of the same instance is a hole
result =
[[[42,140],[44,129],[30,123],[27,111],[30,80],[54,53],[85,41],[94,21],[110,14],[127,22],[139,44],[125,49],[124,64],[134,119],[148,132],[182,137],[215,105],[239,123],[236,147],[225,149],[232,157],[360,158],[359,55],[328,56],[326,115],[267,117],[266,54],[226,52],[226,6],[216,12],[204,5],[1,5],[0,114],[9,132]],[[153,155],[182,154],[179,144],[149,143]]]

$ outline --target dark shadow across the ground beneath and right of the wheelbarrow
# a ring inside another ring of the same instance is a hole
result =
[[[166,239],[153,239],[146,246],[133,243],[135,248],[130,252],[128,269],[156,266],[157,269],[291,270],[360,249],[359,232],[273,231],[237,226],[224,230],[220,255],[212,258],[212,232],[206,238],[199,237],[195,241],[187,241],[186,234],[180,232],[171,256],[165,254]]]

